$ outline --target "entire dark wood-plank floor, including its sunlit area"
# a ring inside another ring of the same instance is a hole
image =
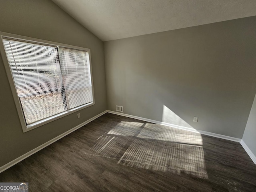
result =
[[[237,142],[104,114],[0,174],[30,192],[256,192]]]

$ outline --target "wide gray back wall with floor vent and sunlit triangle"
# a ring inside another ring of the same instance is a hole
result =
[[[242,138],[256,92],[255,23],[104,42],[108,110]]]

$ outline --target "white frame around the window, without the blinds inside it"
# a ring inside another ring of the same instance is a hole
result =
[[[90,51],[90,49],[83,48],[83,47],[78,47],[78,46],[72,46],[72,45],[68,45],[68,44],[52,42],[52,41],[47,41],[47,40],[41,40],[41,39],[37,39],[37,38],[30,38],[30,37],[16,35],[16,34],[10,34],[10,33],[6,33],[6,32],[0,32],[0,37],[1,37],[1,40],[0,40],[0,54],[1,54],[2,60],[4,62],[4,67],[5,67],[6,74],[7,74],[8,80],[9,80],[10,88],[12,90],[12,96],[14,98],[14,102],[15,102],[15,105],[16,105],[16,109],[17,109],[17,112],[18,112],[18,116],[19,116],[19,119],[20,119],[20,123],[21,123],[23,132],[27,132],[27,131],[32,130],[34,128],[38,128],[38,127],[40,127],[44,124],[47,124],[49,122],[52,122],[54,120],[57,120],[59,118],[62,118],[64,116],[67,116],[69,114],[77,112],[78,110],[82,110],[84,108],[87,108],[87,107],[92,106],[92,105],[95,104],[94,86],[93,86],[93,80],[92,80],[92,62],[91,62],[91,51]],[[9,66],[9,63],[8,63],[8,58],[7,58],[5,49],[4,49],[3,38],[10,38],[10,39],[13,39],[13,40],[21,40],[23,42],[25,41],[25,42],[36,43],[36,44],[57,46],[57,47],[60,47],[60,48],[62,48],[62,47],[63,48],[71,48],[71,49],[74,49],[74,50],[82,50],[82,51],[88,52],[88,54],[89,54],[89,63],[90,63],[90,77],[91,77],[91,83],[92,83],[92,102],[90,102],[88,104],[84,104],[82,106],[78,106],[76,108],[72,108],[70,110],[61,112],[61,113],[56,114],[54,116],[50,116],[50,117],[45,118],[43,120],[40,120],[38,122],[34,122],[32,124],[27,125],[25,117],[24,117],[24,113],[23,113],[23,110],[22,110],[22,106],[21,106],[21,103],[20,103],[20,99],[19,99],[18,93],[16,91],[14,80],[12,78],[12,72],[11,72],[11,69],[10,69],[10,66]]]

